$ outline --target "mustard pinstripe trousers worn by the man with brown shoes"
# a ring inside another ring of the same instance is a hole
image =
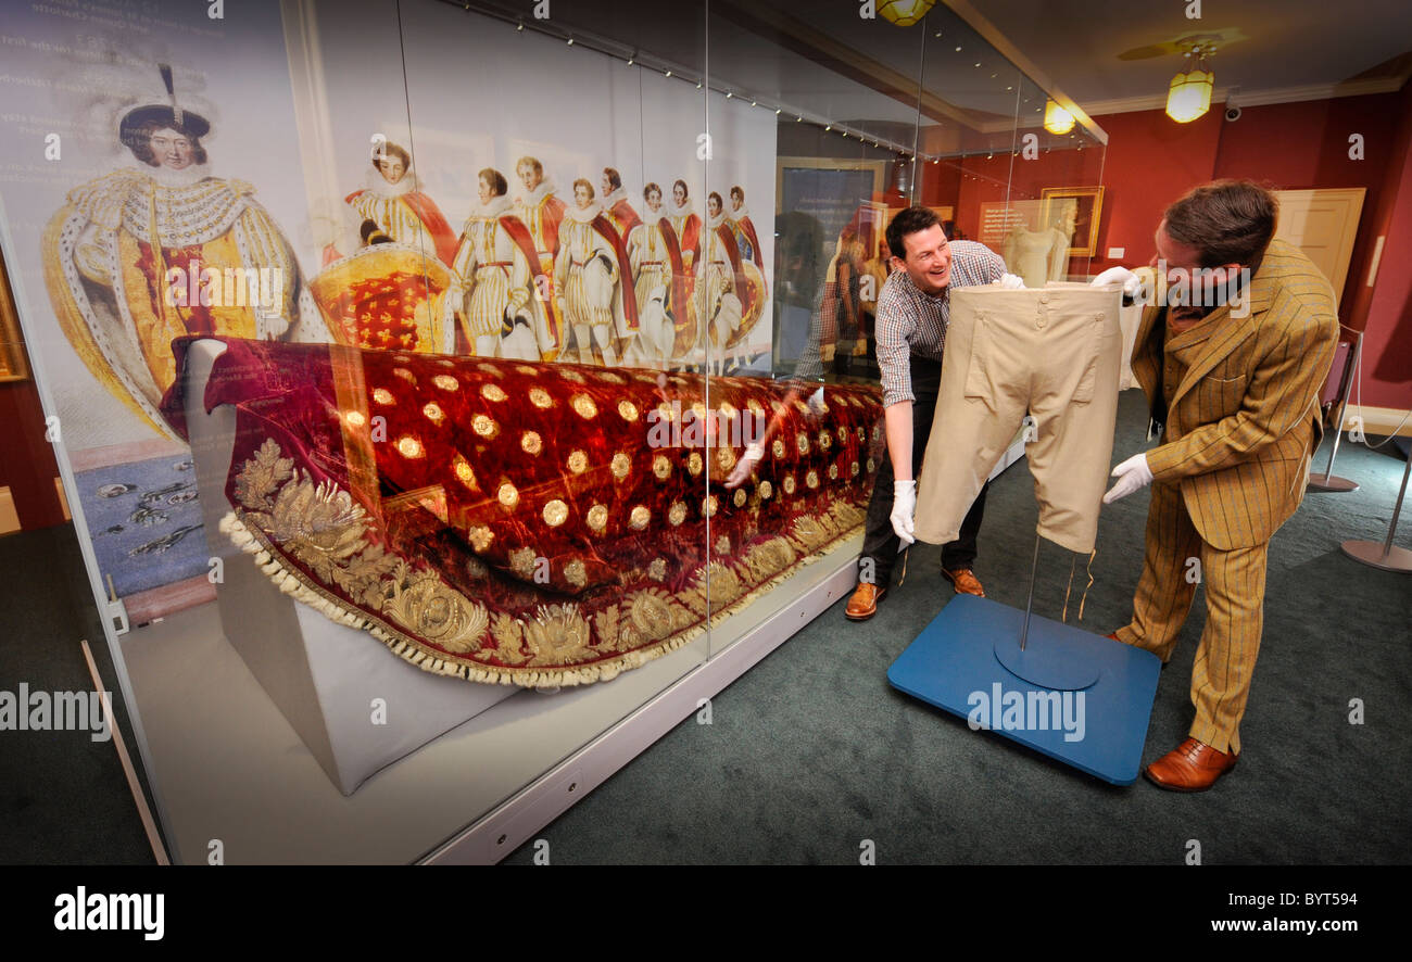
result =
[[[1192,523],[1180,489],[1152,485],[1132,622],[1117,636],[1166,663],[1200,580],[1206,587],[1206,628],[1192,667],[1196,721],[1189,735],[1219,752],[1240,752],[1240,719],[1265,618],[1268,557],[1269,542],[1231,552],[1207,544]],[[1199,559],[1200,568],[1190,559]]]

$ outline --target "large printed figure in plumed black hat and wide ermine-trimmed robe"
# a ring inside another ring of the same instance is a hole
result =
[[[44,237],[54,312],[95,378],[152,430],[186,334],[326,341],[294,251],[244,181],[210,173],[210,121],[165,97],[140,99],[117,134],[136,164],[69,192]],[[145,102],[144,102],[145,100]],[[305,302],[308,303],[308,302]]]

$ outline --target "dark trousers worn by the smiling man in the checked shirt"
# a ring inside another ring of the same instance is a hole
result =
[[[912,477],[922,471],[922,457],[926,454],[926,439],[932,436],[932,418],[936,415],[936,392],[942,384],[942,363],[912,358]],[[969,457],[959,451],[959,456]],[[873,560],[873,584],[887,588],[892,581],[892,561],[897,560],[902,540],[892,530],[892,458],[887,450],[878,464],[878,475],[868,501],[868,515],[863,526],[863,556],[858,559],[858,574],[867,570],[866,561]],[[986,492],[990,481],[976,495],[976,504],[966,512],[960,536],[942,546],[942,567],[947,571],[969,568],[976,563],[976,535],[980,519],[986,513]]]

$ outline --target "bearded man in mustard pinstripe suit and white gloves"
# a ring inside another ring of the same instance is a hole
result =
[[[1196,188],[1168,207],[1156,231],[1159,275],[1207,278],[1214,296],[1142,312],[1132,374],[1165,430],[1158,447],[1114,468],[1118,481],[1104,495],[1111,502],[1152,484],[1132,621],[1113,638],[1165,663],[1196,591],[1189,573],[1206,585],[1196,719],[1189,738],[1147,769],[1173,791],[1203,791],[1236,767],[1269,539],[1299,506],[1322,434],[1319,388],[1339,337],[1333,289],[1302,251],[1272,240],[1275,214],[1269,192],[1236,181]]]

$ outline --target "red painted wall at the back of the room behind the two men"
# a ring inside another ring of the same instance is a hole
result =
[[[1190,124],[1161,110],[1097,121],[1108,134],[1101,178],[1097,151],[1056,151],[1034,161],[969,157],[949,179],[939,171],[923,181],[926,203],[956,203],[957,227],[974,237],[983,202],[1101,182],[1097,255],[1069,265],[1072,274],[1097,274],[1120,262],[1107,258],[1110,247],[1125,248],[1124,265],[1147,264],[1166,205],[1214,178],[1251,178],[1276,190],[1364,188],[1340,320],[1364,330],[1363,401],[1412,408],[1412,85],[1398,93],[1245,107],[1234,123],[1220,107]],[[1364,159],[1348,157],[1354,133],[1363,134]],[[1368,288],[1378,236],[1385,236],[1381,268]]]

